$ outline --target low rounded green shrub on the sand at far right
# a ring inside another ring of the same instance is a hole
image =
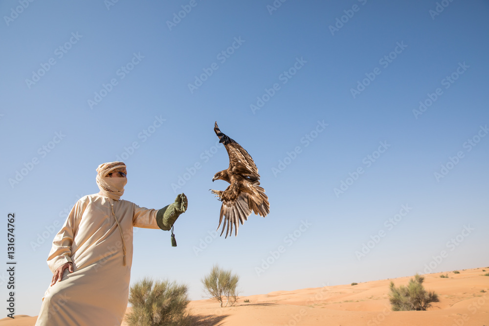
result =
[[[405,310],[426,310],[432,302],[439,302],[438,295],[433,292],[427,292],[422,283],[424,277],[416,274],[414,279],[409,280],[407,287],[400,285],[396,288],[391,281],[389,301],[392,304],[393,311]]]

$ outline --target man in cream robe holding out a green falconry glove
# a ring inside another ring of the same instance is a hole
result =
[[[133,226],[170,230],[187,197],[160,210],[119,199],[126,165],[97,168],[98,194],[78,200],[54,237],[47,263],[53,272],[37,326],[120,326],[129,296]]]

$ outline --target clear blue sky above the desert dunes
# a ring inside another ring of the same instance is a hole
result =
[[[0,13],[16,313],[38,314],[50,242],[118,159],[123,199],[189,200],[178,247],[136,231],[132,282],[187,283],[194,300],[215,263],[243,295],[489,265],[487,1],[4,0]],[[215,121],[270,201],[237,238],[213,233],[208,190],[228,166]]]

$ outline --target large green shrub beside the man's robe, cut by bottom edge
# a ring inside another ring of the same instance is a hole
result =
[[[153,282],[143,279],[130,290],[129,302],[133,311],[128,314],[130,326],[190,326],[192,316],[187,312],[190,300],[187,286],[169,281]]]

